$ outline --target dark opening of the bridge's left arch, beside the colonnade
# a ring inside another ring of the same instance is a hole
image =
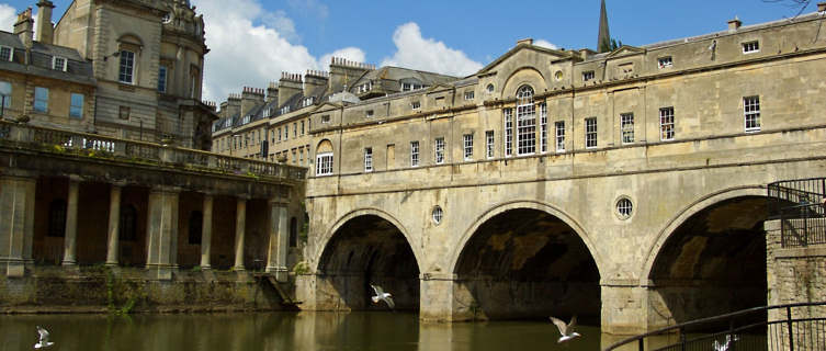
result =
[[[371,303],[370,284],[391,293],[396,309],[419,308],[416,256],[401,230],[378,215],[341,225],[324,249],[318,273],[319,309],[387,309]]]

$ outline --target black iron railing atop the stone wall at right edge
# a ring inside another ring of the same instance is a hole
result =
[[[826,244],[826,178],[769,184],[769,216],[779,219],[784,248]]]

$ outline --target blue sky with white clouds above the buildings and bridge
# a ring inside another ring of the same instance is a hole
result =
[[[552,48],[596,49],[599,0],[332,1],[191,0],[206,23],[204,100],[265,88],[282,71],[327,70],[331,56],[453,76],[472,75],[521,38]],[[36,0],[0,0],[0,30]],[[71,0],[53,0],[57,22]],[[765,0],[607,0],[611,36],[626,45],[792,18]],[[816,10],[815,3],[804,12]]]

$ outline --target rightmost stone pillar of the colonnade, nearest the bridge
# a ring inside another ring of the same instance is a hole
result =
[[[279,282],[287,281],[286,256],[290,246],[290,220],[286,204],[270,201],[270,246],[267,252],[267,272],[275,273]]]

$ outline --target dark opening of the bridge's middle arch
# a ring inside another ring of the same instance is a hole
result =
[[[599,325],[600,274],[568,224],[511,208],[479,225],[456,262],[456,319],[547,319]]]

